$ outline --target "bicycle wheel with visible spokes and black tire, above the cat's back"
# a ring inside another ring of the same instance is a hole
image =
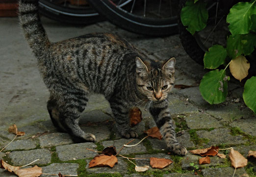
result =
[[[177,2],[171,0],[88,0],[111,23],[139,34],[178,33]]]

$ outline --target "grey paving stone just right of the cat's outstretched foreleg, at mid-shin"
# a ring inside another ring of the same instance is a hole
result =
[[[185,121],[187,126],[191,129],[219,128],[223,126],[220,121],[204,113],[188,115],[185,117]]]

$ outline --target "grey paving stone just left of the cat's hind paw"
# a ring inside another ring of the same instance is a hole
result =
[[[68,133],[48,133],[38,137],[40,147],[51,147],[73,143]]]

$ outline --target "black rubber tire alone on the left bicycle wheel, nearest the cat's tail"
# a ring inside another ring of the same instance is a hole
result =
[[[93,8],[76,9],[39,0],[39,13],[52,20],[72,25],[89,25],[105,20]]]

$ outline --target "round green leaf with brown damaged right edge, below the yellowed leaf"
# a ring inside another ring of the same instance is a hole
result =
[[[227,80],[225,70],[213,70],[206,73],[202,78],[199,89],[205,101],[210,104],[221,103],[226,100],[228,94]]]

